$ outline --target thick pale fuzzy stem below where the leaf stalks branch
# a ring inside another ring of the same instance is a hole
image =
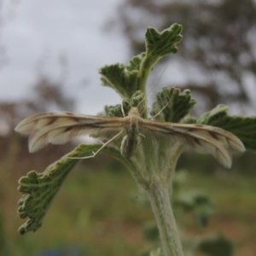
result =
[[[163,252],[166,256],[183,256],[168,184],[155,185],[147,190],[147,194],[160,232]]]

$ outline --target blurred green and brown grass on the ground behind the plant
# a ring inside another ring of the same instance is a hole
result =
[[[1,209],[9,256],[38,256],[49,248],[61,247],[66,251],[78,249],[78,253],[70,255],[130,256],[150,247],[143,239],[141,227],[154,217],[150,209],[137,206],[137,185],[130,173],[101,157],[86,166],[73,170],[43,226],[25,236],[17,233],[24,220],[16,218],[16,201],[20,196],[15,189],[16,180],[8,178],[2,183],[5,192]],[[185,232],[202,236],[220,230],[234,241],[236,256],[255,255],[255,182],[255,177],[241,177],[228,171],[217,176],[189,174],[184,189],[205,190],[217,212],[207,228],[188,223]]]

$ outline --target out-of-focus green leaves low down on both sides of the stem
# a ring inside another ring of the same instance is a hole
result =
[[[181,230],[183,252],[185,255],[194,256],[204,253],[206,256],[232,256],[234,255],[234,245],[220,232],[207,234],[206,236],[187,236],[183,233],[183,220],[185,215],[190,215],[198,227],[206,227],[212,214],[215,212],[214,203],[211,198],[201,189],[185,189],[183,184],[188,178],[187,170],[177,170],[175,178],[172,180],[172,207],[174,215]],[[132,198],[135,198],[133,196]],[[139,207],[150,207],[148,198],[141,194],[136,203]],[[159,231],[154,221],[147,221],[143,224],[143,237],[153,245],[139,256],[150,256],[152,253],[163,255],[160,248]]]

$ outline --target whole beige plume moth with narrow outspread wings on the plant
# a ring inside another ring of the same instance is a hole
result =
[[[137,148],[143,143],[144,135],[141,133],[143,130],[151,131],[154,136],[160,135],[189,144],[196,151],[212,154],[222,166],[227,168],[231,166],[232,154],[245,151],[241,140],[229,131],[210,125],[178,124],[143,119],[134,107],[123,118],[70,112],[36,113],[23,119],[15,128],[15,131],[29,135],[28,145],[31,153],[44,148],[48,143],[67,143],[73,137],[84,134],[115,134],[108,140],[108,143],[124,135],[120,153],[129,159],[136,154]],[[102,148],[106,145],[107,143],[103,143]]]

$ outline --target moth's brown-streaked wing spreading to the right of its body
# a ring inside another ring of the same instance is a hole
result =
[[[185,125],[143,120],[143,126],[181,143],[189,144],[196,151],[212,154],[218,162],[230,168],[232,154],[245,151],[243,143],[234,134],[210,125]]]

